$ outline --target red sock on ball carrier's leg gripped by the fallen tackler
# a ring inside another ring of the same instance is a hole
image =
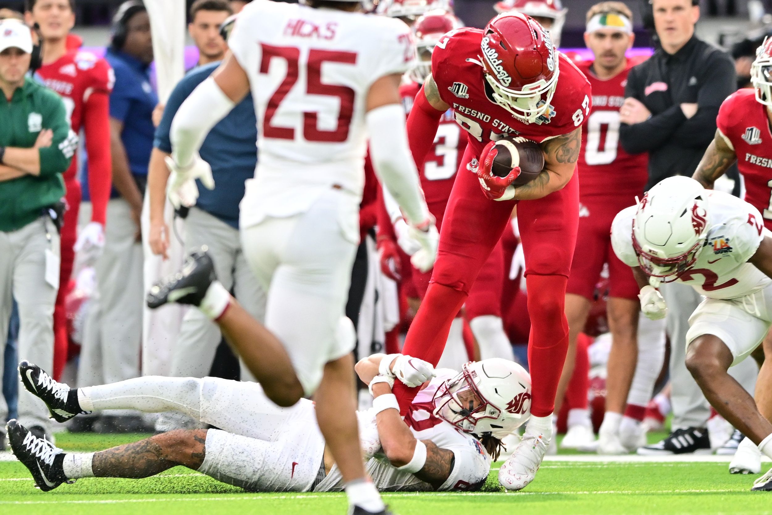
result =
[[[466,292],[432,282],[410,325],[402,353],[436,365],[445,349],[450,324],[464,305],[466,297]],[[418,388],[408,388],[399,381],[394,383],[394,395],[397,396],[403,415],[407,414],[407,407],[417,393]]]

